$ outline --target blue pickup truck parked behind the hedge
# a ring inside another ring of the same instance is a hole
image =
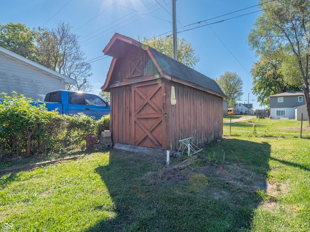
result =
[[[43,103],[49,111],[57,110],[60,114],[66,115],[76,115],[81,112],[87,116],[93,116],[96,120],[110,113],[109,102],[89,93],[55,90],[47,93]]]

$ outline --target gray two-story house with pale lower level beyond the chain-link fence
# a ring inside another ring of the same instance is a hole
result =
[[[270,117],[275,119],[295,119],[295,108],[306,104],[302,91],[279,93],[269,96],[269,99]]]

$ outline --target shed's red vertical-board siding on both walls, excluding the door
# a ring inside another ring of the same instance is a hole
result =
[[[144,51],[143,51],[144,52]],[[130,57],[128,58],[130,59]],[[113,143],[137,145],[136,137],[143,131],[135,124],[135,102],[133,87],[149,83],[161,83],[163,91],[162,122],[153,132],[162,148],[177,150],[179,140],[194,137],[194,144],[202,146],[222,137],[223,98],[197,88],[176,83],[164,78],[155,78],[155,66],[147,62],[144,76],[126,78],[127,58],[118,59],[111,78],[111,131]],[[149,80],[153,78],[154,80]],[[145,81],[141,81],[145,80]],[[147,80],[147,81],[146,81]],[[141,84],[142,83],[142,84]],[[145,83],[145,84],[143,84]],[[175,87],[176,105],[171,105],[171,86]],[[152,89],[148,90],[152,92]],[[150,110],[150,114],[152,111]],[[139,130],[138,130],[139,129]],[[158,134],[160,133],[161,136]],[[161,140],[158,139],[161,137]],[[149,137],[141,141],[141,146],[158,147]]]

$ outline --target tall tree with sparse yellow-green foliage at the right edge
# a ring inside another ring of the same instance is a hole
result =
[[[276,56],[281,51],[285,79],[301,79],[310,124],[309,55],[310,55],[310,1],[259,1],[262,14],[248,35],[251,48],[257,55]],[[288,75],[298,75],[298,78]]]

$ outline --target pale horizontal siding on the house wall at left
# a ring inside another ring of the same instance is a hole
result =
[[[48,92],[66,87],[62,80],[1,54],[0,83],[0,93],[12,95],[12,91],[16,91],[17,94],[41,101]]]

